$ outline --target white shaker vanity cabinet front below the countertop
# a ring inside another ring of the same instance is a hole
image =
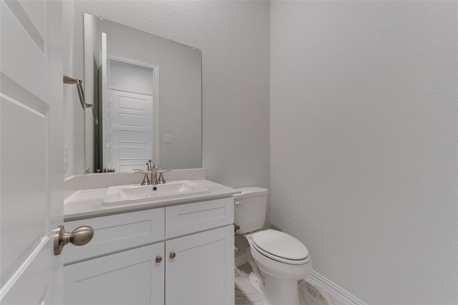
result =
[[[65,304],[232,305],[233,221],[229,197],[65,222],[94,228],[63,252]]]

